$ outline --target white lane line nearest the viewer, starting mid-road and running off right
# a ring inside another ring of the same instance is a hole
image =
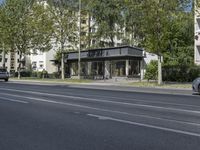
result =
[[[121,122],[121,123],[125,123],[125,124],[131,124],[131,125],[136,125],[136,126],[142,126],[142,127],[147,127],[147,128],[153,128],[153,129],[158,129],[158,130],[170,131],[170,132],[174,132],[174,133],[180,133],[180,134],[184,134],[184,135],[200,137],[200,134],[188,132],[188,131],[159,127],[159,126],[154,126],[154,125],[149,125],[149,124],[144,124],[144,123],[138,123],[138,122],[133,122],[133,121],[128,121],[128,120],[122,120],[122,119],[117,119],[117,118],[112,118],[112,117],[94,115],[94,114],[87,114],[87,115],[90,116],[90,117],[99,118],[100,120],[111,120],[111,121]]]

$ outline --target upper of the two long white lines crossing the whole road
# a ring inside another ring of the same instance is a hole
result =
[[[176,111],[176,112],[186,112],[186,113],[200,114],[200,111],[180,109],[180,108],[170,108],[170,107],[162,107],[162,106],[153,106],[153,105],[147,105],[147,104],[133,104],[133,103],[126,103],[126,102],[115,102],[115,101],[103,100],[103,99],[86,98],[86,97],[79,97],[79,96],[67,96],[67,95],[59,95],[59,94],[49,94],[49,93],[32,92],[32,91],[22,91],[22,90],[16,90],[16,89],[3,89],[2,88],[2,90],[15,91],[15,92],[21,92],[21,93],[28,93],[28,94],[31,93],[31,94],[37,94],[37,95],[48,95],[48,96],[55,96],[55,97],[72,98],[74,100],[79,99],[79,100],[96,101],[96,102],[101,102],[101,103],[104,102],[104,103],[121,104],[121,105],[128,105],[128,106],[136,106],[136,107],[153,108],[153,109],[159,109],[159,110],[168,110],[168,111]]]

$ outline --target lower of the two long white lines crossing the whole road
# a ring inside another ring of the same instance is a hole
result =
[[[34,97],[27,97],[27,96],[20,96],[20,95],[14,95],[14,94],[6,94],[6,93],[1,93],[1,94],[20,97],[20,98],[26,98],[26,99],[30,99],[30,100],[34,100],[34,101],[41,101],[41,102],[48,102],[48,103],[53,103],[53,104],[67,105],[67,106],[72,106],[72,107],[92,109],[92,110],[109,112],[109,113],[117,113],[117,114],[120,114],[120,115],[128,115],[128,116],[132,116],[132,117],[143,117],[143,118],[147,118],[147,119],[162,120],[162,121],[168,121],[168,122],[173,122],[173,123],[175,122],[175,123],[179,123],[179,124],[192,125],[192,126],[197,126],[197,127],[200,126],[199,123],[192,123],[192,122],[179,121],[179,120],[160,118],[160,117],[153,117],[153,116],[147,116],[147,115],[131,114],[131,113],[128,113],[128,112],[121,112],[121,111],[117,111],[117,110],[108,110],[108,109],[103,109],[103,108],[90,107],[90,106],[86,106],[86,105],[72,104],[72,103],[66,103],[66,102],[57,102],[57,101],[47,100],[47,99],[42,99],[42,98],[34,98]]]

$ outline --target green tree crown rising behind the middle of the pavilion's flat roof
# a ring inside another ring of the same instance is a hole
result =
[[[123,2],[119,0],[91,0],[89,10],[94,18],[97,32],[96,39],[100,46],[105,46],[101,40],[108,40],[109,46],[115,46],[114,38],[119,33],[119,24],[122,21],[121,6]]]

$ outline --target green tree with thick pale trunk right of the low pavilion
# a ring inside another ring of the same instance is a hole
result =
[[[144,0],[144,46],[158,55],[158,84],[162,84],[161,58],[169,45],[171,22],[183,11],[188,0]]]

